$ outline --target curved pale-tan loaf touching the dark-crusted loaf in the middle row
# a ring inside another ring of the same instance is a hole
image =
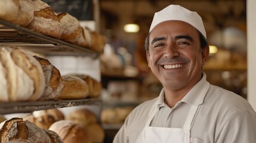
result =
[[[45,89],[45,77],[41,64],[39,64],[39,62],[28,52],[18,48],[11,50],[11,58],[34,82],[33,86],[35,90],[33,91],[33,94],[30,95],[29,100],[38,100]]]

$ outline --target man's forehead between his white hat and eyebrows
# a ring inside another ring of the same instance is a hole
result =
[[[184,21],[169,20],[157,24],[150,32],[149,38],[165,35],[198,35],[198,30]]]

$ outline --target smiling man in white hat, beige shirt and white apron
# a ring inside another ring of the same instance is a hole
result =
[[[132,111],[114,143],[256,142],[256,114],[239,95],[211,85],[202,18],[179,5],[155,13],[146,56],[163,89]]]

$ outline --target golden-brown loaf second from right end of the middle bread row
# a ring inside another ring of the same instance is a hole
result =
[[[88,97],[87,83],[79,77],[62,76],[63,88],[59,99],[79,99]]]

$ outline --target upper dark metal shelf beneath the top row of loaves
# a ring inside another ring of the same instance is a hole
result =
[[[34,32],[0,19],[0,46],[18,46],[43,55],[81,55],[98,57],[98,52],[57,38]]]

